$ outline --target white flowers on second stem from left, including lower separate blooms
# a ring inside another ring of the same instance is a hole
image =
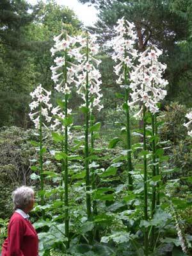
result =
[[[63,38],[65,37],[65,38]],[[79,72],[79,65],[76,65],[70,62],[70,58],[74,58],[77,62],[81,62],[82,55],[79,53],[81,47],[77,48],[76,45],[76,37],[70,37],[70,35],[65,35],[62,32],[57,37],[53,38],[55,44],[54,47],[51,48],[52,56],[56,53],[57,55],[54,59],[56,66],[51,66],[52,71],[52,80],[56,83],[55,89],[58,92],[63,94],[70,94],[71,89],[69,85],[74,82],[74,78],[76,77],[77,73]],[[65,60],[66,58],[66,60]],[[66,67],[65,67],[66,65]],[[65,80],[65,72],[67,80]],[[67,110],[67,114],[71,113],[71,109]],[[57,117],[53,119],[53,124],[51,124],[52,130],[65,130],[65,126],[61,123],[61,119],[65,118],[65,114],[61,108],[55,107],[51,110],[52,115],[56,115]],[[69,133],[69,132],[68,132]]]

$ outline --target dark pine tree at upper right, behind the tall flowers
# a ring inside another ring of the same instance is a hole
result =
[[[92,3],[100,10],[99,20],[90,28],[100,34],[100,42],[113,37],[116,21],[125,17],[134,22],[138,35],[137,47],[144,51],[150,44],[163,49],[163,62],[168,64],[165,74],[169,80],[168,101],[176,96],[183,101],[183,94],[191,87],[191,46],[180,44],[189,42],[191,35],[191,1],[189,0],[79,0]],[[191,40],[191,39],[190,39]],[[187,60],[187,61],[186,61]],[[186,84],[188,80],[188,85]],[[182,85],[181,85],[182,84]]]

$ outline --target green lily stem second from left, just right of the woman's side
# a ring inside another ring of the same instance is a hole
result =
[[[64,69],[64,80],[65,85],[67,84],[67,50],[65,50],[65,69]],[[68,108],[68,95],[65,94],[65,118],[67,118],[67,108]],[[68,126],[65,126],[65,154],[68,155]],[[68,218],[68,158],[65,158],[64,162],[65,175],[64,175],[64,184],[65,184],[65,236],[68,238],[67,248],[69,247],[69,218]]]

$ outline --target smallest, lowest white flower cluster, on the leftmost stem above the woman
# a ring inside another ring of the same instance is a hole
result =
[[[51,92],[48,92],[42,87],[42,85],[39,85],[38,87],[36,87],[34,92],[30,93],[30,95],[32,99],[34,99],[34,101],[32,101],[29,104],[29,107],[31,109],[31,112],[33,110],[35,110],[35,112],[33,113],[30,112],[29,117],[35,124],[35,128],[38,129],[40,128],[40,114],[42,114],[42,116],[45,117],[45,120],[48,123],[51,121],[51,117],[49,116],[49,111],[48,111],[48,110],[51,110],[51,107],[52,107],[52,104],[49,103]],[[36,108],[38,108],[37,111],[36,111]],[[45,125],[44,122],[42,123]]]

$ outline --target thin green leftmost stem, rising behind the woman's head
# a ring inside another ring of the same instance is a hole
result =
[[[39,164],[40,164],[40,185],[41,185],[41,205],[44,205],[44,175],[43,175],[43,143],[42,143],[42,104],[40,104],[40,127],[39,127],[39,136],[40,136],[40,151],[39,151]],[[43,214],[44,215],[44,214]]]

